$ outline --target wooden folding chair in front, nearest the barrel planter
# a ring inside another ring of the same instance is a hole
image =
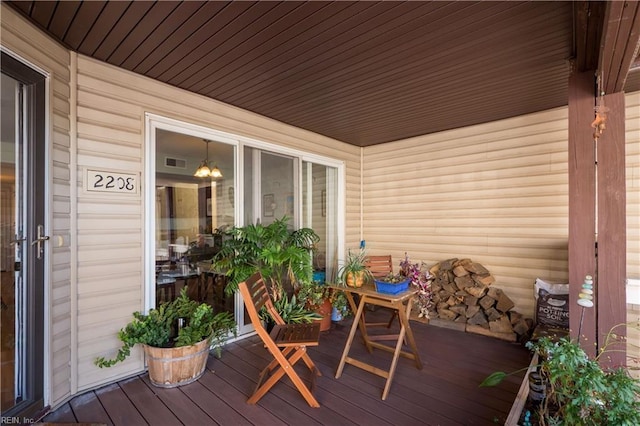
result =
[[[255,273],[246,281],[240,283],[239,288],[251,318],[251,323],[266,348],[274,357],[274,360],[260,373],[256,390],[249,397],[247,403],[255,404],[258,402],[286,374],[310,406],[320,407],[320,404],[312,394],[312,389],[315,384],[315,378],[321,374],[307,353],[307,346],[318,345],[320,323],[285,324],[269,297],[269,291],[260,273]],[[258,315],[263,306],[275,321],[275,326],[271,333],[265,330]],[[305,385],[293,368],[300,359],[304,361],[312,372],[310,387]],[[270,376],[269,373],[271,373]],[[267,376],[269,378],[263,383]]]

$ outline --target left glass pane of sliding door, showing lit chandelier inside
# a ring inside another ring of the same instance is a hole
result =
[[[183,288],[215,312],[235,312],[225,277],[211,271],[222,232],[233,226],[235,147],[158,129],[155,175],[156,306]],[[221,176],[194,176],[203,163]]]

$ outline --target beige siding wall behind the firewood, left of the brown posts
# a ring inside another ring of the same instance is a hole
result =
[[[482,263],[533,314],[537,277],[567,280],[567,109],[365,149],[372,254]]]

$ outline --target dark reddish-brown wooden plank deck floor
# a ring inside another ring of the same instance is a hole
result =
[[[384,311],[368,313],[371,317]],[[288,378],[255,405],[259,371],[270,361],[257,337],[228,344],[222,358],[209,357],[207,371],[195,383],[173,389],[150,384],[142,374],[76,396],[49,413],[44,422],[107,425],[495,425],[504,424],[524,372],[496,388],[479,388],[490,373],[529,364],[521,345],[490,337],[411,322],[424,368],[400,358],[391,391],[381,400],[384,379],[347,365],[335,372],[350,322],[323,332],[309,350],[323,374],[316,380],[320,408],[310,408]],[[357,338],[357,337],[356,337]],[[351,356],[387,369],[391,354],[354,342]],[[300,375],[308,370],[300,363]]]

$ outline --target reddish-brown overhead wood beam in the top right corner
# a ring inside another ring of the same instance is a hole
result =
[[[621,92],[640,47],[640,3],[606,3],[598,70],[604,93]]]

